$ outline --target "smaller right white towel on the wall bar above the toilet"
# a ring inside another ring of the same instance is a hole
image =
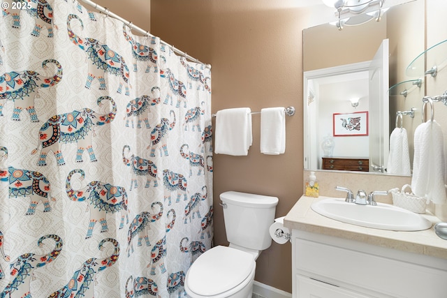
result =
[[[278,155],[286,151],[284,107],[261,109],[261,153]]]

